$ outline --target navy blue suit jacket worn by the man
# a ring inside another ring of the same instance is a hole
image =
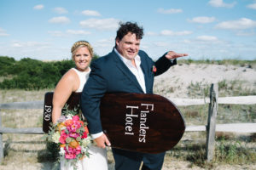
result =
[[[139,51],[141,57],[141,68],[145,77],[147,94],[153,94],[154,76],[167,71],[170,66],[176,65],[174,59],[166,59],[164,54],[160,59],[154,62],[148,57],[148,54]],[[153,72],[153,65],[157,71]],[[137,93],[143,94],[143,89],[137,82],[137,78],[131,73],[119,55],[114,50],[99,59],[96,59],[90,65],[90,77],[84,85],[81,95],[81,109],[88,121],[90,133],[102,132],[102,122],[100,118],[101,98],[106,93]],[[111,113],[109,113],[111,116]]]

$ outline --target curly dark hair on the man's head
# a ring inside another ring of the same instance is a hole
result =
[[[137,39],[143,39],[143,27],[137,26],[136,22],[119,22],[119,30],[116,32],[115,39],[121,40],[128,32],[134,33]]]

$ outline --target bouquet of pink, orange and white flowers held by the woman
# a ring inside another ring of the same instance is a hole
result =
[[[61,158],[74,166],[89,156],[90,136],[86,125],[79,116],[61,116],[48,134],[49,141],[59,145]]]

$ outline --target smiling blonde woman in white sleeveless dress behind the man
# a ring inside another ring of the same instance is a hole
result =
[[[90,61],[93,57],[93,48],[89,42],[79,41],[71,48],[72,59],[76,65],[61,77],[53,97],[52,122],[55,124],[61,116],[61,110],[67,99],[73,92],[82,92],[84,84],[90,74]],[[79,160],[76,167],[78,170],[107,170],[107,150],[91,145],[90,157]],[[61,160],[61,170],[73,170],[71,164],[64,164]]]

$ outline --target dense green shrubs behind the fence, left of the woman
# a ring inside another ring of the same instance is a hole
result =
[[[6,78],[0,82],[2,89],[55,88],[61,77],[74,66],[72,60],[43,62],[37,59],[24,58],[15,61],[15,59],[8,57],[0,57],[0,60],[6,63],[6,66],[1,67],[0,75],[14,76],[12,79]]]

